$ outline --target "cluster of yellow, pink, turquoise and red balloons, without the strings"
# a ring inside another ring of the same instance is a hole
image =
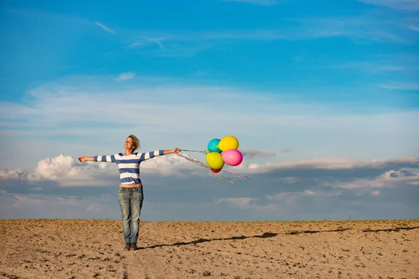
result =
[[[243,161],[242,153],[237,150],[239,141],[232,135],[223,137],[221,140],[210,140],[207,147],[208,153],[205,159],[214,173],[220,172],[224,164],[235,167]]]

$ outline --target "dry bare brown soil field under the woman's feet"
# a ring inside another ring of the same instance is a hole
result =
[[[0,220],[0,278],[419,278],[419,220]]]

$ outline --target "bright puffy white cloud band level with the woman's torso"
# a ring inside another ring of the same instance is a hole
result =
[[[112,154],[96,154],[96,155],[112,155]],[[180,153],[187,158],[200,160],[206,165],[205,158],[198,158],[195,154]],[[203,156],[201,156],[203,157]],[[223,170],[228,170],[233,174],[240,175],[278,175],[278,181],[288,184],[295,184],[302,177],[304,172],[309,170],[327,170],[327,171],[342,171],[350,169],[388,169],[388,167],[402,166],[400,169],[386,171],[381,176],[375,179],[358,179],[353,177],[351,182],[340,181],[339,174],[333,176],[328,174],[329,179],[323,181],[323,185],[335,188],[383,188],[396,186],[399,183],[414,184],[419,181],[419,170],[406,165],[416,165],[419,163],[419,158],[404,157],[394,158],[388,160],[361,160],[355,158],[314,158],[310,160],[293,160],[282,161],[277,163],[256,164],[244,161],[237,167],[226,167]],[[295,170],[301,172],[301,176],[295,176]],[[286,172],[291,175],[287,175]],[[189,162],[181,156],[166,155],[152,158],[142,162],[142,174],[158,174],[159,176],[208,176],[212,174],[199,167],[198,165]],[[22,179],[24,181],[54,181],[59,186],[110,186],[117,183],[119,180],[119,172],[115,163],[98,163],[87,162],[78,163],[71,156],[59,155],[55,158],[45,158],[41,160],[34,172],[30,173],[23,169],[0,169],[0,179],[3,181]],[[322,179],[322,177],[319,177]],[[42,190],[42,189],[41,189]],[[334,193],[333,195],[335,195]],[[304,195],[326,195],[314,190],[307,190]],[[270,199],[268,197],[268,199]],[[250,202],[249,200],[248,202]]]

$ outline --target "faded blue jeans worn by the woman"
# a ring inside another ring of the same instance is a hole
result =
[[[125,243],[137,243],[140,230],[140,211],[144,199],[142,187],[121,187],[118,192],[122,212],[122,229]]]

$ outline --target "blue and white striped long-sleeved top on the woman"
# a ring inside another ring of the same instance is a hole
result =
[[[147,153],[132,153],[125,156],[123,153],[108,156],[94,156],[95,162],[117,163],[121,184],[139,184],[140,163],[156,156],[162,156],[163,150],[150,151]]]

